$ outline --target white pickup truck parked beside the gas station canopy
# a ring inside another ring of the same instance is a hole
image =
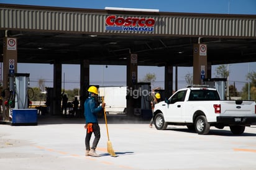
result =
[[[186,125],[204,135],[209,133],[210,127],[229,126],[234,135],[240,135],[245,126],[256,125],[255,112],[254,101],[221,101],[216,89],[186,87],[156,104],[153,120],[158,130],[168,125]]]

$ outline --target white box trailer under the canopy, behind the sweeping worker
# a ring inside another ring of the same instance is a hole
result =
[[[126,86],[99,87],[99,96],[104,97],[105,110],[109,112],[126,112]]]

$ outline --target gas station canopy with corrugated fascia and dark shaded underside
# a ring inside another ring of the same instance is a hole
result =
[[[18,63],[126,65],[136,53],[138,65],[193,66],[194,43],[211,65],[256,61],[256,16],[0,4],[0,20],[0,47],[17,38]]]

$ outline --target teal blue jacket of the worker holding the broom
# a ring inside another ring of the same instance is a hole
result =
[[[85,123],[98,123],[98,112],[103,110],[99,105],[96,106],[96,101],[93,97],[88,97],[85,101]]]

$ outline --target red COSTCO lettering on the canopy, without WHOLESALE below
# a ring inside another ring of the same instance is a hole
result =
[[[105,20],[106,24],[109,26],[132,26],[135,27],[136,25],[139,25],[139,27],[153,27],[155,25],[155,19],[149,18],[133,18],[133,17],[127,17],[126,19],[124,17],[116,17],[116,16],[108,16]]]

